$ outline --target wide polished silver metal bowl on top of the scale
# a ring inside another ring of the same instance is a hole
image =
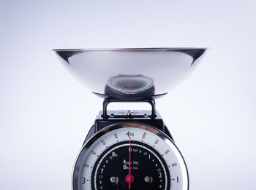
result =
[[[191,74],[206,48],[54,50],[91,92],[121,100],[165,95]]]

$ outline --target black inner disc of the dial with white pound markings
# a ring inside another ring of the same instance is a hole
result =
[[[165,160],[151,146],[124,141],[99,156],[91,173],[91,189],[170,189]]]

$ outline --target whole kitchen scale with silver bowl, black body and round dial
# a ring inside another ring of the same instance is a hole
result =
[[[205,48],[54,50],[64,67],[104,98],[72,173],[73,190],[187,190],[186,163],[156,111],[194,70]],[[151,110],[107,109],[113,102],[145,102]]]

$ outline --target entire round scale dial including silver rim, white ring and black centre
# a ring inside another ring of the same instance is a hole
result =
[[[170,138],[146,124],[110,125],[80,151],[74,190],[187,190],[184,159]]]

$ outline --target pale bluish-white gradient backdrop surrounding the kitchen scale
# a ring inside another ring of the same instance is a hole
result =
[[[211,47],[157,110],[190,189],[256,189],[255,17],[247,0],[1,0],[0,189],[71,188],[102,100],[51,50],[80,47]],[[149,108],[110,105],[129,107]]]

